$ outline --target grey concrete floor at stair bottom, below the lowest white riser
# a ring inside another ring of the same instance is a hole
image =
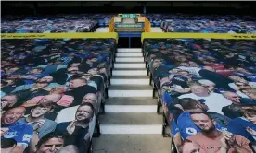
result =
[[[171,138],[162,135],[100,135],[94,153],[170,153]]]

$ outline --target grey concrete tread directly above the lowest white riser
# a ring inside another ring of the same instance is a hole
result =
[[[162,116],[155,112],[106,113],[99,116],[101,125],[161,125]]]

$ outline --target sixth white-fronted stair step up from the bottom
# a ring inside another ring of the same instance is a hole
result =
[[[116,62],[114,63],[115,68],[146,68],[144,62]]]

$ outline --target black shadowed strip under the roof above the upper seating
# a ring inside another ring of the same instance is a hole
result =
[[[27,1],[1,2],[2,15],[7,14],[57,14],[57,13],[143,13],[144,6],[147,13],[214,13],[214,14],[254,14],[255,5],[252,2],[125,2],[125,1],[76,1],[49,2]],[[15,11],[13,11],[15,10]]]

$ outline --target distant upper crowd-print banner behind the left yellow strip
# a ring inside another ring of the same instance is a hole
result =
[[[40,17],[1,18],[1,33],[92,32],[97,26],[107,27],[115,14],[76,14]]]

